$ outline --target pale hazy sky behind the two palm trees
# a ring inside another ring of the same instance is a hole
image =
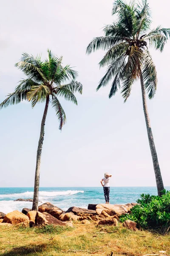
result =
[[[170,27],[170,2],[150,0],[151,28]],[[47,49],[63,56],[83,84],[78,105],[61,99],[67,116],[62,132],[50,107],[40,167],[40,186],[100,186],[105,172],[111,186],[156,186],[139,82],[126,103],[120,92],[108,99],[110,84],[96,92],[105,52],[85,54],[89,42],[113,22],[113,0],[6,0],[0,15],[0,102],[25,76],[14,64],[23,52],[42,59]],[[170,186],[170,43],[151,50],[158,74],[156,96],[147,99],[164,185]],[[0,186],[32,187],[44,104],[28,102],[0,111]]]

